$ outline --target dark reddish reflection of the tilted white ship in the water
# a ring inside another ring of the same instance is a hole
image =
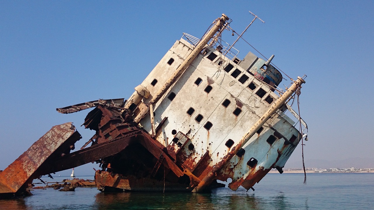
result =
[[[258,197],[245,191],[230,192],[229,189],[216,189],[211,194],[192,193],[99,193],[95,195],[97,209],[293,209],[296,207],[282,192],[275,197]],[[300,200],[299,200],[300,201]],[[305,200],[305,208],[309,209]],[[301,208],[300,208],[301,207]]]

